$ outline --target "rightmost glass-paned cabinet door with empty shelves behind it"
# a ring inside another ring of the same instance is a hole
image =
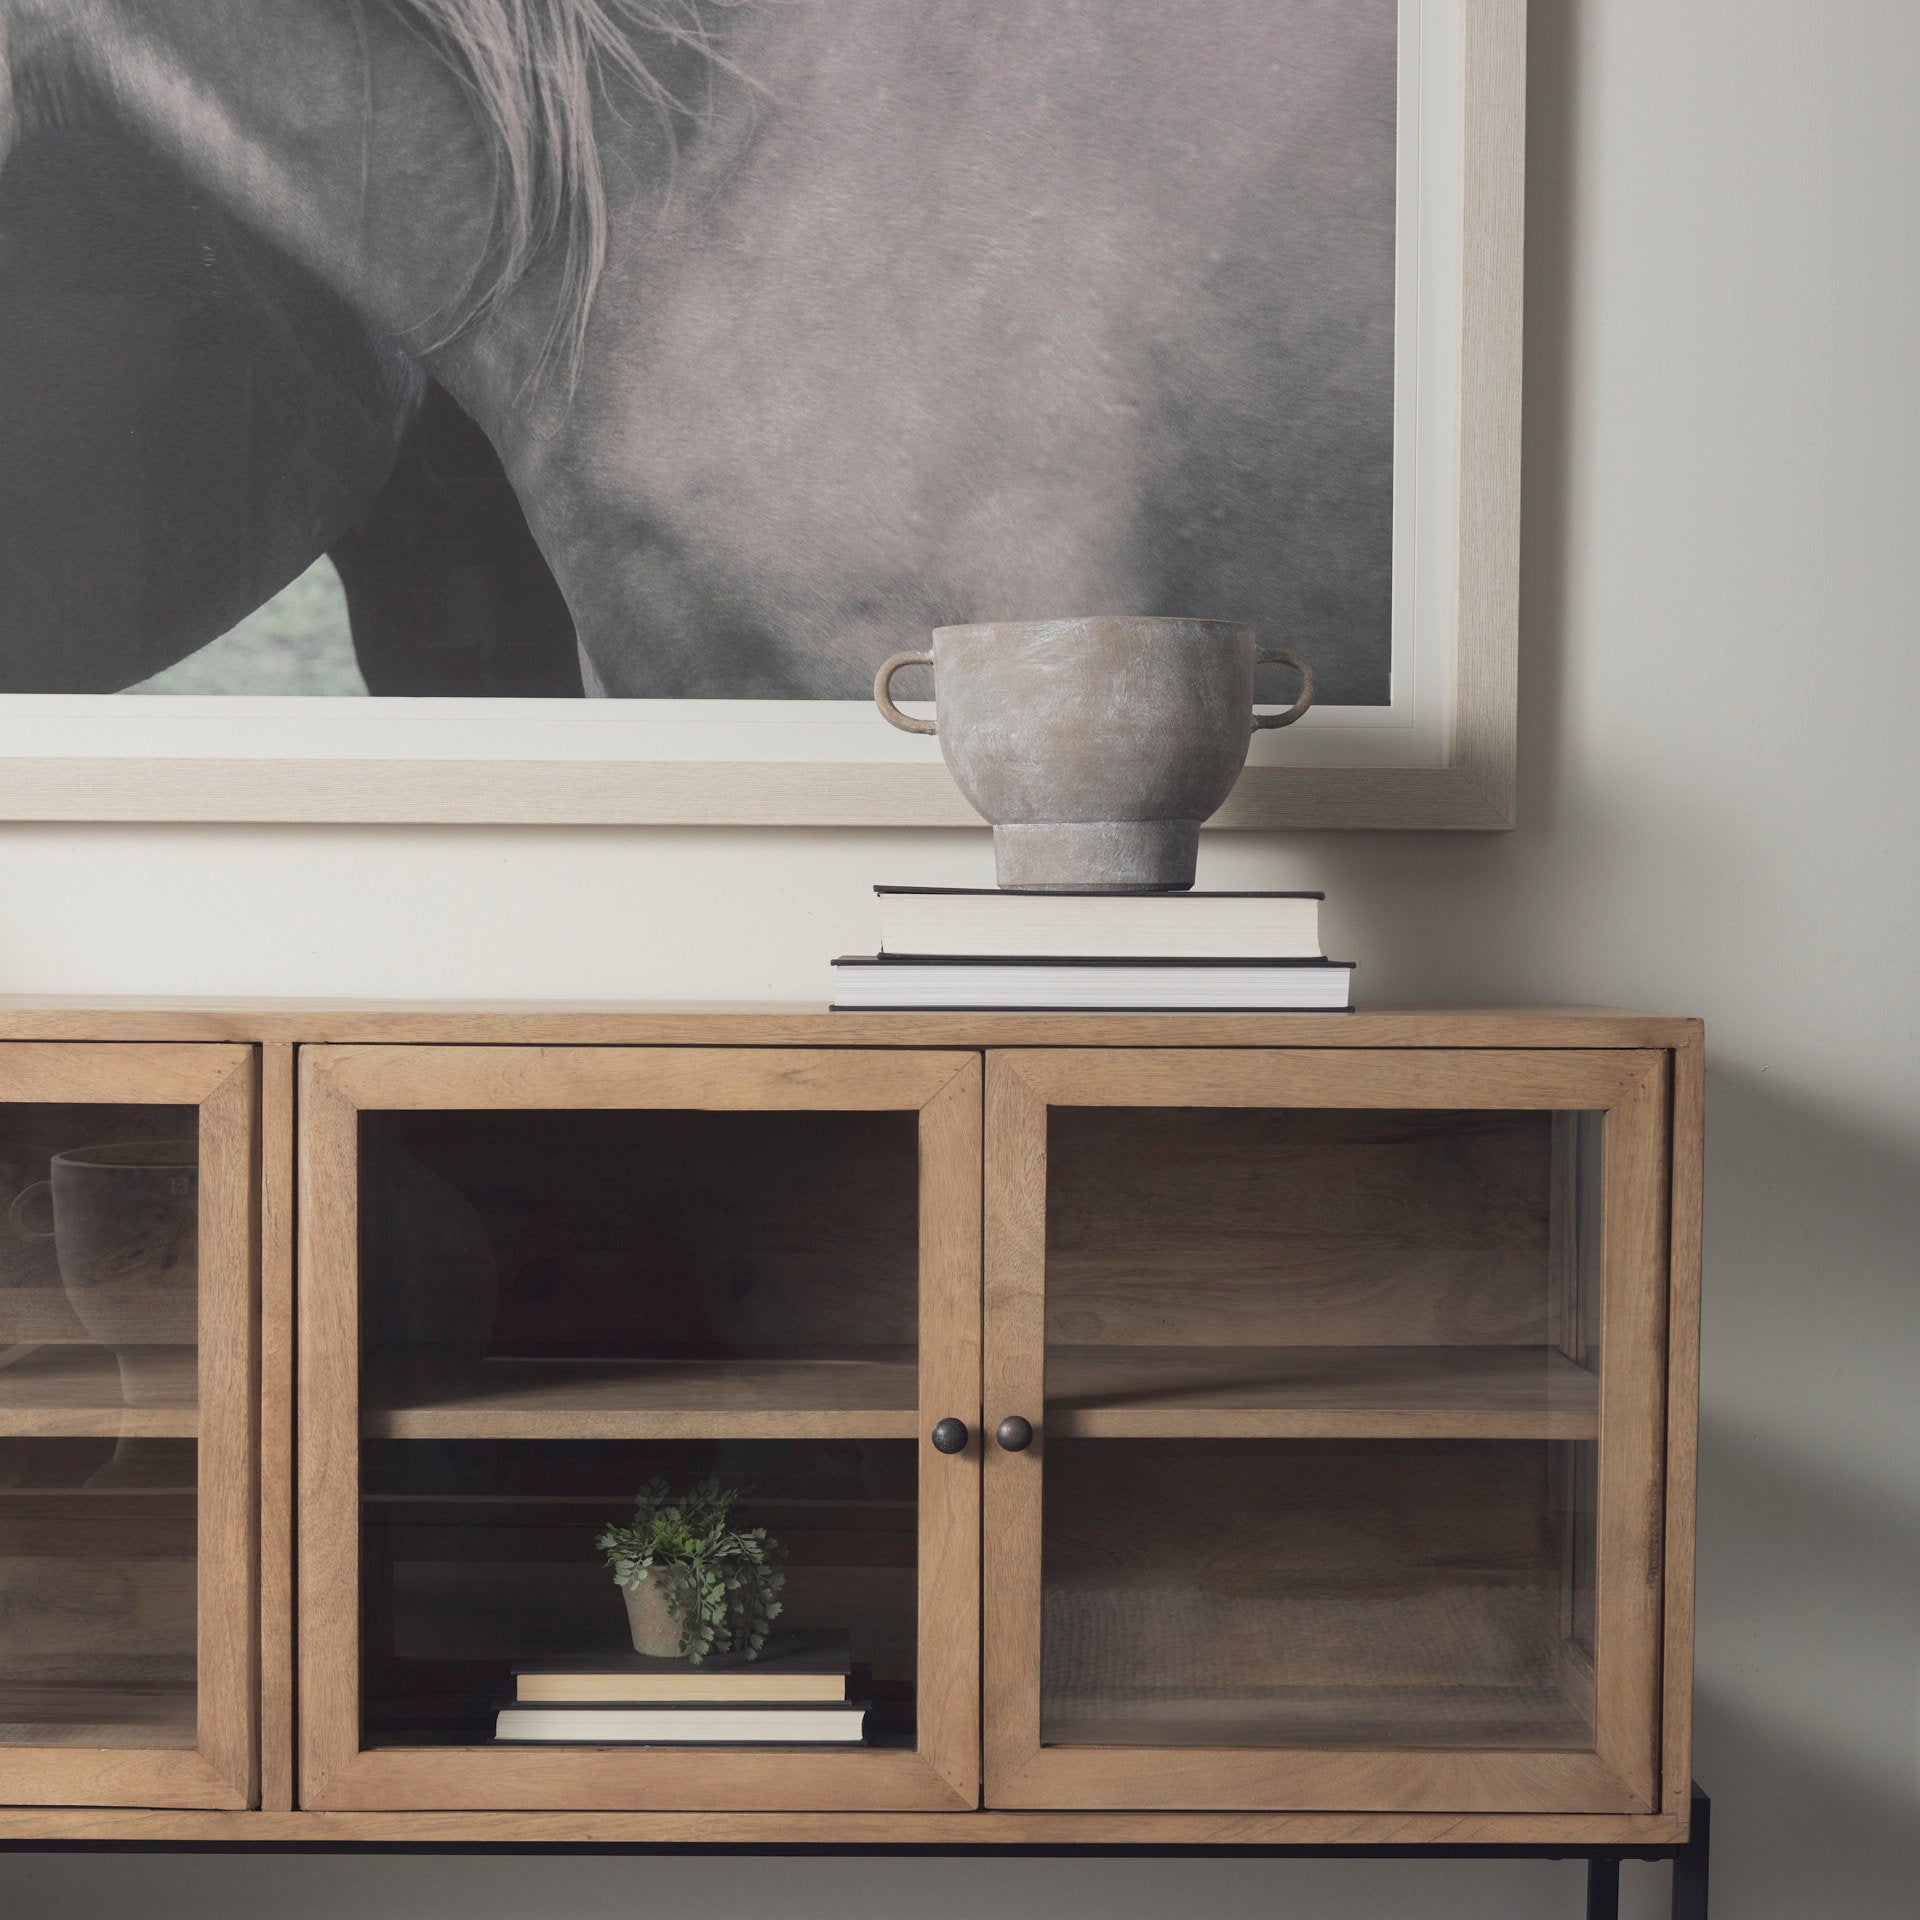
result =
[[[1659,1052],[989,1056],[989,1805],[1653,1805],[1665,1106]]]

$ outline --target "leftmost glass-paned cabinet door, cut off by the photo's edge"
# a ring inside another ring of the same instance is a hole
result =
[[[250,1805],[252,1167],[252,1048],[0,1044],[0,1805]]]

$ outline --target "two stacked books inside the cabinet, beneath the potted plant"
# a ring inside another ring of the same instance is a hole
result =
[[[659,1661],[609,1653],[574,1667],[516,1667],[495,1740],[607,1745],[858,1745],[845,1634],[768,1634],[760,1657]]]

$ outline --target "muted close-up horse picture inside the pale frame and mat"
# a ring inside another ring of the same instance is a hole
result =
[[[0,693],[326,555],[376,695],[1112,611],[1380,705],[1396,13],[0,0]]]

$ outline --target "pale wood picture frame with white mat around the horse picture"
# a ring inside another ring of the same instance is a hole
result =
[[[1215,828],[1513,826],[1526,8],[1398,19],[1392,705],[1256,735]],[[0,818],[979,826],[852,701],[63,693],[0,695]]]

